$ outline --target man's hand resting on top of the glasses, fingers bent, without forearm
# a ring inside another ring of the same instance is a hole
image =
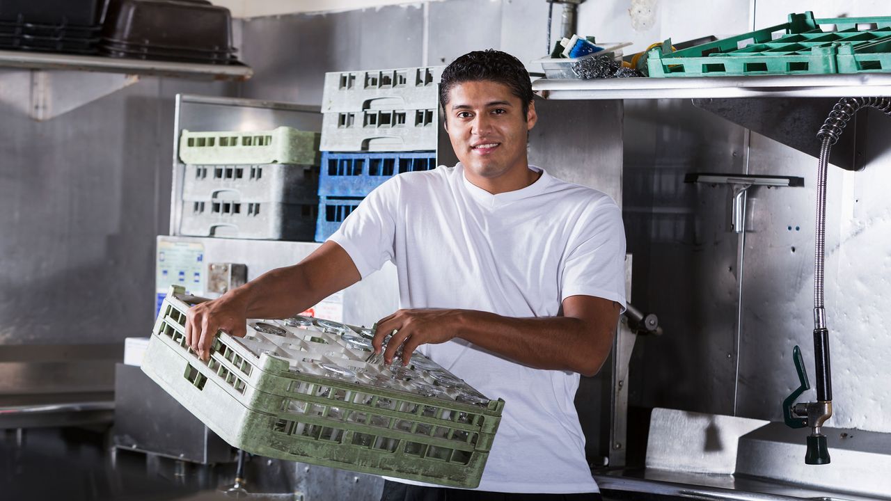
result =
[[[408,365],[414,350],[421,344],[438,344],[449,341],[458,333],[461,310],[458,309],[400,309],[385,316],[377,323],[372,346],[380,353],[383,340],[393,337],[384,349],[384,362],[393,363],[396,350],[402,346],[402,363]]]

